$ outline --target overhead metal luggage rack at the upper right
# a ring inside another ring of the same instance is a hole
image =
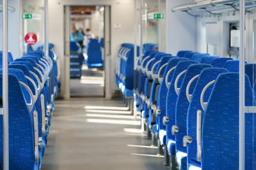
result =
[[[245,1],[246,11],[252,10],[256,6],[256,0]],[[205,13],[211,15],[221,15],[224,11],[239,11],[239,0],[208,0],[196,3],[182,4],[175,6],[172,11],[184,11],[194,17],[200,17]]]

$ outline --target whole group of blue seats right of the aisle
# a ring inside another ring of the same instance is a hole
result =
[[[239,60],[148,51],[134,72],[133,50],[122,44],[118,51],[116,83],[125,97],[134,97],[147,138],[158,145],[165,164],[171,169],[238,169]],[[256,66],[245,67],[246,104],[253,105]],[[246,169],[252,169],[256,151],[253,118],[246,115]]]

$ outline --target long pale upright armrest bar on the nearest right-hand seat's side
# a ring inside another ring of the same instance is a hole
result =
[[[196,111],[196,160],[201,161],[202,110]]]

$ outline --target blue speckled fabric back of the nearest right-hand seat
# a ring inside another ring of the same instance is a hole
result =
[[[255,106],[245,78],[245,105]],[[202,169],[239,169],[239,73],[221,73],[209,97],[202,122]],[[255,167],[255,114],[245,114],[245,168]]]

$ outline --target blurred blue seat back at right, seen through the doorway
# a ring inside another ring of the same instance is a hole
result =
[[[89,64],[102,63],[100,45],[97,39],[90,39],[90,42],[88,43],[87,55],[87,62]]]

